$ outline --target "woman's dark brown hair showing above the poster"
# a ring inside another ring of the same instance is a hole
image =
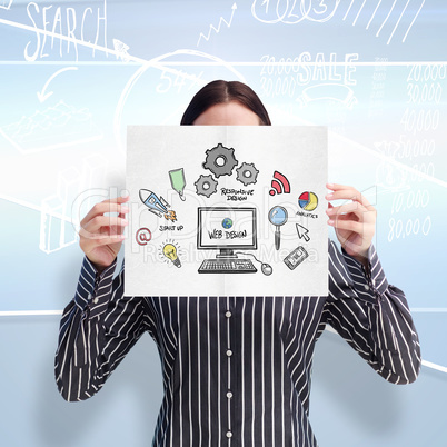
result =
[[[247,85],[239,81],[211,81],[191,99],[181,118],[181,126],[192,122],[211,106],[237,101],[259,117],[261,126],[271,126],[270,118],[259,97]]]

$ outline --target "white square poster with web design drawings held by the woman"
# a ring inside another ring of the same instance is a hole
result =
[[[327,295],[324,127],[128,128],[126,295]]]

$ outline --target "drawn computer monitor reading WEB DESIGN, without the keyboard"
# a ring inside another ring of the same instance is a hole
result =
[[[216,258],[237,258],[236,250],[256,250],[256,208],[198,208],[197,248],[219,250]]]

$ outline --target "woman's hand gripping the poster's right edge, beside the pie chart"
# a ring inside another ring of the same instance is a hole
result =
[[[328,224],[335,228],[346,252],[366,266],[376,227],[376,209],[352,187],[335,183],[326,187],[332,191],[326,196]],[[345,200],[345,203],[334,207],[332,200]]]

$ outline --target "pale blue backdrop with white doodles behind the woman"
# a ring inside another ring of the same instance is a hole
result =
[[[445,445],[446,19],[440,0],[0,1],[2,445],[149,444],[161,399],[149,337],[90,401],[58,396],[74,227],[123,188],[126,126],[177,125],[219,78],[250,85],[274,125],[329,127],[329,179],[376,206],[375,245],[420,335],[406,387],[324,335],[320,445]]]

